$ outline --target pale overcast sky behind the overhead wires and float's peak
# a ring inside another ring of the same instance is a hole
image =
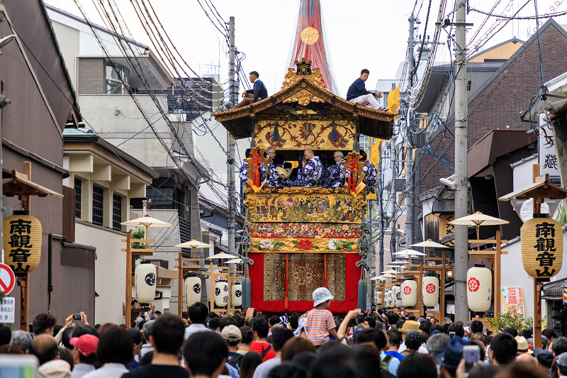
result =
[[[203,1],[203,0],[201,0]],[[286,60],[295,33],[295,23],[299,0],[211,0],[218,13],[228,22],[235,16],[236,45],[245,52],[247,59],[242,67],[245,72],[256,70],[266,84],[270,94],[279,90],[286,72]],[[447,0],[445,14],[451,12],[454,2]],[[347,88],[359,76],[361,68],[371,72],[367,89],[374,89],[378,79],[393,79],[400,62],[404,60],[408,41],[408,16],[414,0],[320,0],[332,67],[341,95],[345,96]],[[526,1],[502,1],[494,13],[511,16],[518,9],[518,4]],[[128,27],[136,40],[151,45],[150,40],[138,21],[130,0],[116,0],[120,12],[126,19]],[[567,11],[567,2],[562,0],[539,0],[539,13]],[[73,0],[47,0],[47,4],[56,6],[69,13],[81,15]],[[103,25],[91,1],[81,0],[82,6],[91,21]],[[416,36],[423,33],[429,1],[418,0],[417,10],[422,23],[416,30]],[[493,0],[470,0],[471,7],[489,11]],[[512,4],[507,6],[507,4]],[[561,4],[556,6],[555,4]],[[174,41],[176,48],[184,55],[184,59],[193,70],[202,74],[210,72],[207,65],[218,65],[220,62],[220,80],[228,77],[228,55],[226,44],[218,30],[211,26],[203,9],[196,0],[160,0],[152,1],[160,21]],[[204,4],[203,4],[204,5]],[[557,9],[556,9],[557,8]],[[430,22],[427,34],[433,36],[434,22],[439,13],[439,0],[432,0]],[[534,2],[529,1],[520,15],[535,14]],[[468,22],[475,24],[467,37],[476,33],[485,16],[471,11]],[[489,18],[485,23],[483,35],[494,25],[496,19]],[[558,23],[567,23],[566,16],[556,18]],[[500,24],[501,26],[502,24]],[[525,40],[534,32],[535,21],[512,21],[491,38],[485,47],[503,42],[514,36]],[[499,26],[498,26],[499,27]],[[447,42],[444,33],[443,42]],[[220,57],[219,57],[220,55]],[[450,60],[447,46],[439,49],[437,61]],[[213,69],[219,72],[219,68]]]

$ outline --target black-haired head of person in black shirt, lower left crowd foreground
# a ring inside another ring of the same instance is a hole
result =
[[[184,335],[185,323],[181,318],[169,313],[160,316],[152,327],[152,338],[159,353],[177,355],[183,344]]]

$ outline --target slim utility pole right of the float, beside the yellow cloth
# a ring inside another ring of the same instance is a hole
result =
[[[408,111],[405,117],[405,248],[409,249],[413,244],[413,149],[411,145],[411,135],[413,129],[413,111],[411,109],[411,94],[413,84],[413,44],[414,44],[414,21],[413,14],[410,15],[410,35],[408,37],[408,70],[406,77],[407,89],[405,100],[408,102]]]

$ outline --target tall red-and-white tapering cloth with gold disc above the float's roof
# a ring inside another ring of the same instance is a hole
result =
[[[296,60],[301,62],[303,57],[305,60],[311,60],[311,67],[320,70],[327,91],[339,94],[332,73],[330,55],[327,53],[326,39],[319,0],[301,0],[288,67],[295,67]]]

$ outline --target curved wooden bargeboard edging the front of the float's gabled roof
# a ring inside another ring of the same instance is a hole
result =
[[[238,118],[251,117],[256,113],[266,111],[267,109],[283,103],[286,99],[295,96],[301,91],[306,91],[316,99],[322,100],[320,102],[325,102],[327,104],[330,104],[331,106],[335,106],[337,109],[352,113],[353,116],[357,115],[359,117],[366,117],[374,119],[376,121],[386,122],[393,121],[393,118],[395,117],[395,114],[389,113],[387,111],[378,111],[376,109],[370,109],[365,106],[353,104],[350,101],[332,94],[330,91],[316,87],[309,80],[305,79],[305,77],[302,77],[297,82],[289,85],[288,87],[282,89],[276,94],[269,96],[266,99],[260,100],[248,106],[243,106],[242,108],[230,109],[228,111],[214,113],[213,116],[215,116],[215,120],[220,123],[223,123],[225,121],[232,121]]]

